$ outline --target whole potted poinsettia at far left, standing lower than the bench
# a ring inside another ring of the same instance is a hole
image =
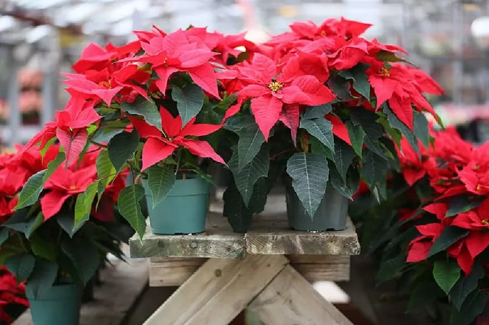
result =
[[[114,215],[124,176],[97,194],[95,165],[106,159],[97,148],[73,163],[57,144],[19,149],[0,159],[0,262],[26,281],[35,325],[76,325],[84,286],[107,253],[122,259],[132,235]]]

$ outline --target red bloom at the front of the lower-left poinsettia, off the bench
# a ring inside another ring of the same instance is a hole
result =
[[[50,190],[41,198],[44,220],[57,214],[68,198],[85,192],[95,179],[96,170],[93,165],[77,171],[58,168],[44,184],[44,189]]]

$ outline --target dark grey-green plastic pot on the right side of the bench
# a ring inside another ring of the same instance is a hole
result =
[[[309,216],[291,183],[286,182],[287,218],[292,229],[300,231],[344,230],[348,218],[348,198],[326,187],[326,193],[314,216]]]

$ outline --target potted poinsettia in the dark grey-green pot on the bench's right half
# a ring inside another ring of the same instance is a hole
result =
[[[442,90],[402,64],[399,46],[361,38],[369,26],[296,22],[265,44],[267,55],[228,69],[222,82],[233,82],[238,96],[226,128],[237,140],[224,213],[235,229],[246,230],[280,177],[292,228],[344,229],[360,179],[385,197],[385,172],[397,163],[401,135],[416,147],[418,139],[427,144],[422,112],[435,113],[423,93]]]

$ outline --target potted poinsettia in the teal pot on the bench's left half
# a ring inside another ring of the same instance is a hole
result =
[[[214,148],[233,99],[221,100],[214,71],[222,62],[212,49],[225,46],[202,28],[135,33],[137,41],[119,48],[89,44],[76,73],[65,75],[67,107],[26,147],[57,138],[72,163],[98,146],[108,157],[97,164],[99,176],[130,170],[118,207],[140,237],[143,197],[154,233],[202,232],[209,162],[224,163]]]

